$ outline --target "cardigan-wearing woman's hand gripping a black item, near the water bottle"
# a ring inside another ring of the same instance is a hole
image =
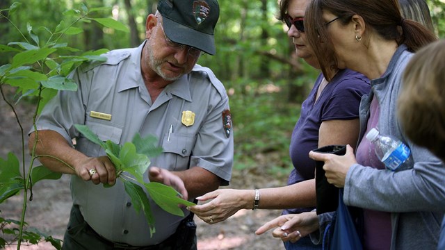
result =
[[[357,163],[354,156],[354,149],[349,145],[346,145],[346,154],[344,156],[310,151],[309,158],[325,162],[323,169],[325,170],[327,182],[337,188],[343,188],[345,186],[346,174],[348,174],[349,168]]]

